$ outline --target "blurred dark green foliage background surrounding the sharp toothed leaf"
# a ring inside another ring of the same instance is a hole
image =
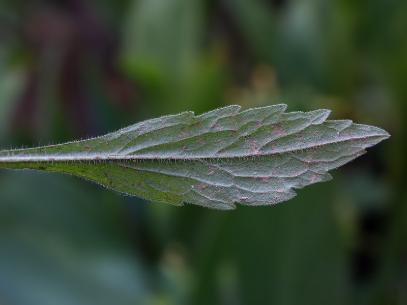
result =
[[[0,147],[239,104],[392,138],[275,206],[0,172],[0,304],[407,304],[407,2],[0,0]]]

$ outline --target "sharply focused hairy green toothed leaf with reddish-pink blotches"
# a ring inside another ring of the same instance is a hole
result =
[[[330,180],[330,169],[390,136],[326,120],[330,110],[286,107],[162,116],[93,139],[0,151],[0,167],[61,171],[151,200],[233,209],[293,198],[293,188]]]

